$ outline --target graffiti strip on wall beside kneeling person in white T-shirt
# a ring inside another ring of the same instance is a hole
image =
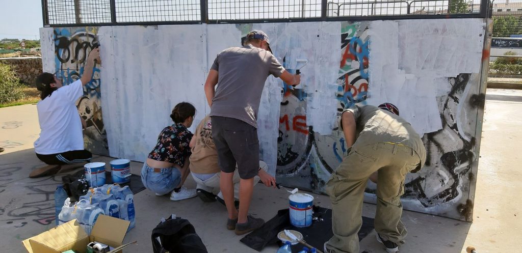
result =
[[[78,80],[83,72],[89,52],[99,43],[97,28],[55,28],[56,76],[64,85]],[[77,102],[78,112],[87,124],[84,141],[87,150],[109,154],[107,134],[103,124],[100,69],[94,66],[92,80],[84,86],[84,96]]]

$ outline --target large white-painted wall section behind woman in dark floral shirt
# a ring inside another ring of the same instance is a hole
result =
[[[102,103],[110,155],[145,161],[177,103],[205,115],[203,26],[100,27]],[[108,59],[105,61],[104,59]],[[110,59],[110,60],[109,60]]]

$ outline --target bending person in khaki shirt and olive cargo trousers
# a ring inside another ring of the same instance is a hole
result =
[[[341,114],[339,129],[345,136],[348,156],[326,183],[332,202],[334,236],[324,244],[324,251],[359,252],[364,189],[371,178],[377,181],[376,239],[386,251],[395,253],[407,234],[400,221],[404,180],[409,172],[419,171],[426,161],[421,137],[390,103],[346,109]]]

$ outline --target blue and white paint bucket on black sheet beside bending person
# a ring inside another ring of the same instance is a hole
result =
[[[296,227],[312,225],[314,197],[310,194],[296,193],[288,198],[290,200],[290,223]]]

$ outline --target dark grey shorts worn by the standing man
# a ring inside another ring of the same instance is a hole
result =
[[[239,119],[212,116],[212,139],[222,172],[232,173],[238,164],[239,177],[250,179],[259,170],[257,129]]]

